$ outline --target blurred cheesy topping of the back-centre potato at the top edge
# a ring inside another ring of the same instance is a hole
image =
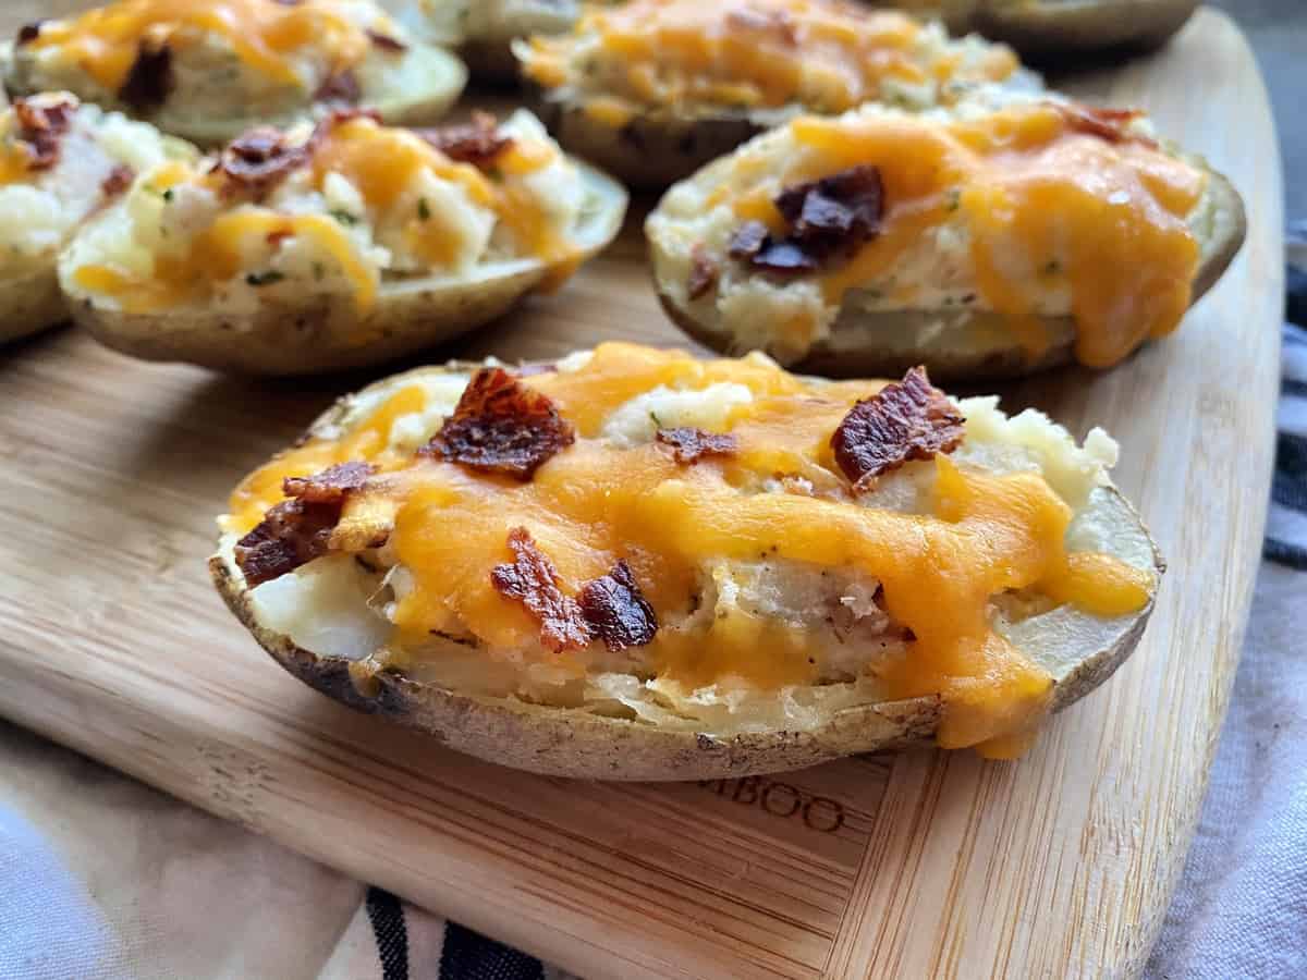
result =
[[[570,35],[519,46],[527,76],[637,107],[842,112],[877,99],[946,103],[1014,78],[1010,50],[842,0],[637,0],[587,13]]]

